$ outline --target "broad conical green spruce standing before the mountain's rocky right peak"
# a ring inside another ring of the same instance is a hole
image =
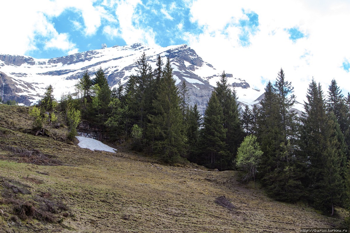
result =
[[[180,155],[184,154],[186,142],[179,92],[172,72],[173,68],[168,58],[160,80],[160,88],[153,101],[156,115],[148,116],[151,121],[148,128],[152,129],[156,137],[152,145],[154,152],[171,163],[179,160]]]

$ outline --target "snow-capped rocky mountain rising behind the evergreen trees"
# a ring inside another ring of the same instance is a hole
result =
[[[136,61],[143,52],[153,68],[158,54],[164,63],[167,57],[170,58],[176,84],[183,80],[187,82],[191,104],[197,103],[203,113],[222,71],[203,61],[186,44],[165,48],[151,48],[139,43],[116,45],[52,59],[0,54],[0,97],[4,101],[16,100],[22,105],[30,105],[40,100],[45,88],[51,84],[55,98],[59,100],[62,93],[75,93],[77,79],[82,78],[85,70],[93,78],[99,67],[104,70],[111,87],[119,81],[125,85],[128,77],[136,74]],[[251,88],[245,80],[234,78],[232,74],[228,74],[228,81],[236,89],[241,105],[259,103],[263,92]]]

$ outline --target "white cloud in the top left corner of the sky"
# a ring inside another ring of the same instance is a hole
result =
[[[0,51],[10,54],[26,54],[37,50],[39,44],[46,49],[61,49],[77,51],[75,44],[69,41],[69,35],[60,34],[52,24],[53,17],[61,15],[64,10],[73,10],[83,18],[84,25],[73,22],[77,30],[84,28],[84,35],[93,35],[101,25],[101,19],[113,22],[113,17],[103,7],[94,7],[96,0],[40,0],[35,4],[31,1],[1,1],[2,17],[8,20],[0,26],[1,31],[6,31],[8,36],[0,38]],[[21,7],[18,7],[18,6]],[[114,20],[115,21],[115,20]],[[12,44],[13,46],[8,46]]]

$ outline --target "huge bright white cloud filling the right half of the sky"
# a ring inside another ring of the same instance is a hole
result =
[[[189,46],[216,67],[244,78],[252,86],[259,85],[261,77],[275,81],[282,67],[286,79],[292,81],[298,100],[305,99],[311,78],[321,82],[327,90],[335,78],[344,91],[349,73],[341,66],[350,54],[350,3],[347,1],[195,1],[191,7],[191,20],[204,28],[200,35],[184,34]],[[273,7],[272,7],[273,6]],[[250,45],[239,42],[240,28],[245,12],[259,15],[259,31],[250,35]],[[298,27],[307,37],[295,43],[289,39],[286,28]],[[214,46],[215,49],[208,49]],[[325,92],[326,93],[326,92]]]

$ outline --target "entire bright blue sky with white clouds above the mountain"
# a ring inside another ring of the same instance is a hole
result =
[[[273,6],[273,7],[272,7]],[[280,68],[304,99],[312,77],[348,92],[347,0],[13,0],[1,1],[0,53],[53,58],[142,43],[188,44],[218,71],[255,88]]]

